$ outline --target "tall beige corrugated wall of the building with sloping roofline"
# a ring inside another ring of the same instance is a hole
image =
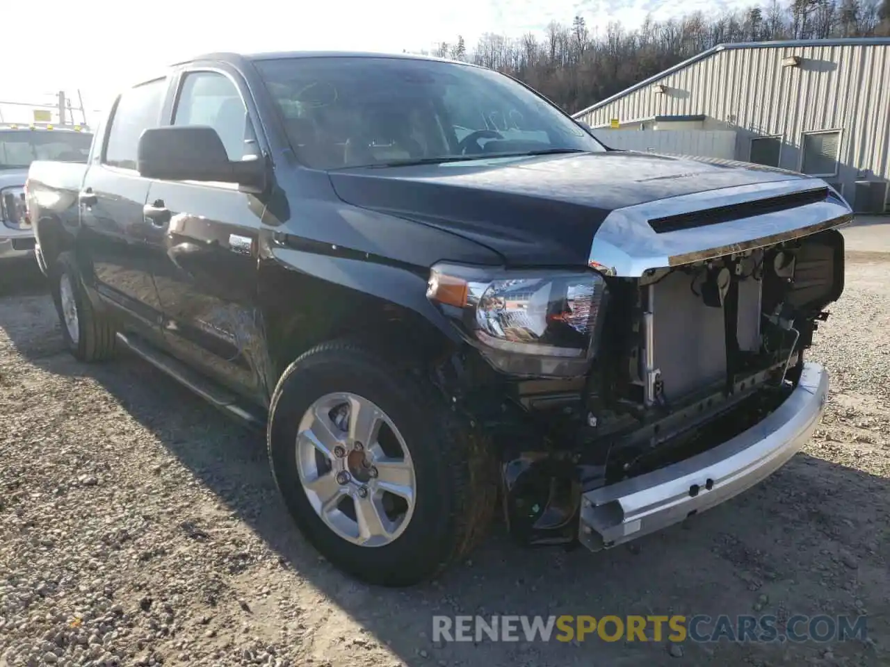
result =
[[[800,66],[782,67],[791,55]],[[890,180],[890,45],[725,49],[578,118],[597,127],[684,114],[705,114],[707,129],[737,130],[741,160],[752,138],[781,136],[780,166],[793,170],[801,168],[803,133],[841,130],[838,173],[827,180],[852,197],[860,170]]]

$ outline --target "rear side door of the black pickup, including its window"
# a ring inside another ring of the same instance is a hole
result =
[[[136,146],[143,130],[160,123],[166,90],[166,78],[158,78],[121,94],[79,195],[81,238],[96,291],[117,309],[125,329],[155,341],[161,340],[161,307],[143,212],[149,181],[136,172]]]

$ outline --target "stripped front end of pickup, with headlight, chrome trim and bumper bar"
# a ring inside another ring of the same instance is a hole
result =
[[[824,182],[773,181],[610,213],[583,279],[435,267],[430,297],[513,378],[459,371],[511,534],[609,548],[788,461],[823,410],[828,375],[804,354],[843,291],[851,220]],[[546,355],[511,352],[532,341]]]

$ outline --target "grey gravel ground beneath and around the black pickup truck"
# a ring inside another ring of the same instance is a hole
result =
[[[890,664],[890,257],[850,253],[812,357],[813,441],[765,483],[616,550],[503,527],[429,585],[369,588],[295,533],[263,437],[142,361],[61,350],[36,279],[0,298],[0,667]],[[10,285],[16,285],[12,289]],[[867,614],[869,639],[432,642],[433,614]]]

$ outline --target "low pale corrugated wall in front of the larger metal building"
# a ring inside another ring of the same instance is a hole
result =
[[[606,146],[623,150],[651,150],[656,153],[735,157],[735,133],[732,130],[594,130]]]

